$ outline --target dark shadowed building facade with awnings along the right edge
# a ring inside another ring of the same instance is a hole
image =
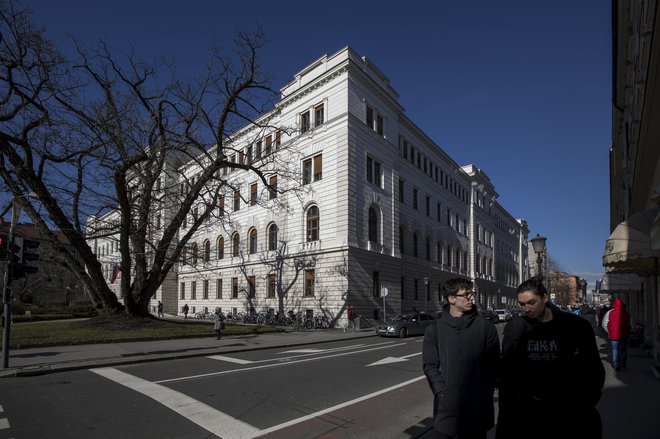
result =
[[[624,299],[633,320],[645,323],[660,364],[660,7],[656,0],[613,0],[612,6],[611,234],[603,283]],[[636,274],[641,283],[617,281],[622,274]]]

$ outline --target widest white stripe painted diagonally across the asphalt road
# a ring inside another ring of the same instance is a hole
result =
[[[258,435],[257,433],[259,433],[258,428],[176,390],[143,380],[111,367],[90,370],[158,401],[170,410],[221,438],[256,437]]]

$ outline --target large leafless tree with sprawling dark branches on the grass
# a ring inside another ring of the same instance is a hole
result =
[[[219,197],[235,189],[224,169],[251,172],[266,186],[275,173],[285,178],[277,154],[231,159],[243,153],[240,127],[252,126],[255,136],[290,132],[262,116],[275,97],[258,63],[264,40],[260,30],[237,32],[232,52],[214,49],[204,75],[183,81],[166,63],[104,42],[78,43],[70,62],[29,11],[0,3],[0,177],[99,307],[149,314],[150,299],[214,217]],[[162,212],[167,221],[158,227]],[[90,237],[117,241],[125,308]]]

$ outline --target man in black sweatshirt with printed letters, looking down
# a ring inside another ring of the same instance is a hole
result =
[[[540,277],[516,294],[524,316],[504,327],[496,438],[600,439],[605,369],[591,325],[550,303]],[[570,425],[546,418],[557,410]]]

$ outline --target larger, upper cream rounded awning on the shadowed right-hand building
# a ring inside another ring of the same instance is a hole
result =
[[[660,257],[660,207],[638,212],[614,229],[605,243],[607,271],[651,273]],[[653,236],[653,237],[652,237]]]

